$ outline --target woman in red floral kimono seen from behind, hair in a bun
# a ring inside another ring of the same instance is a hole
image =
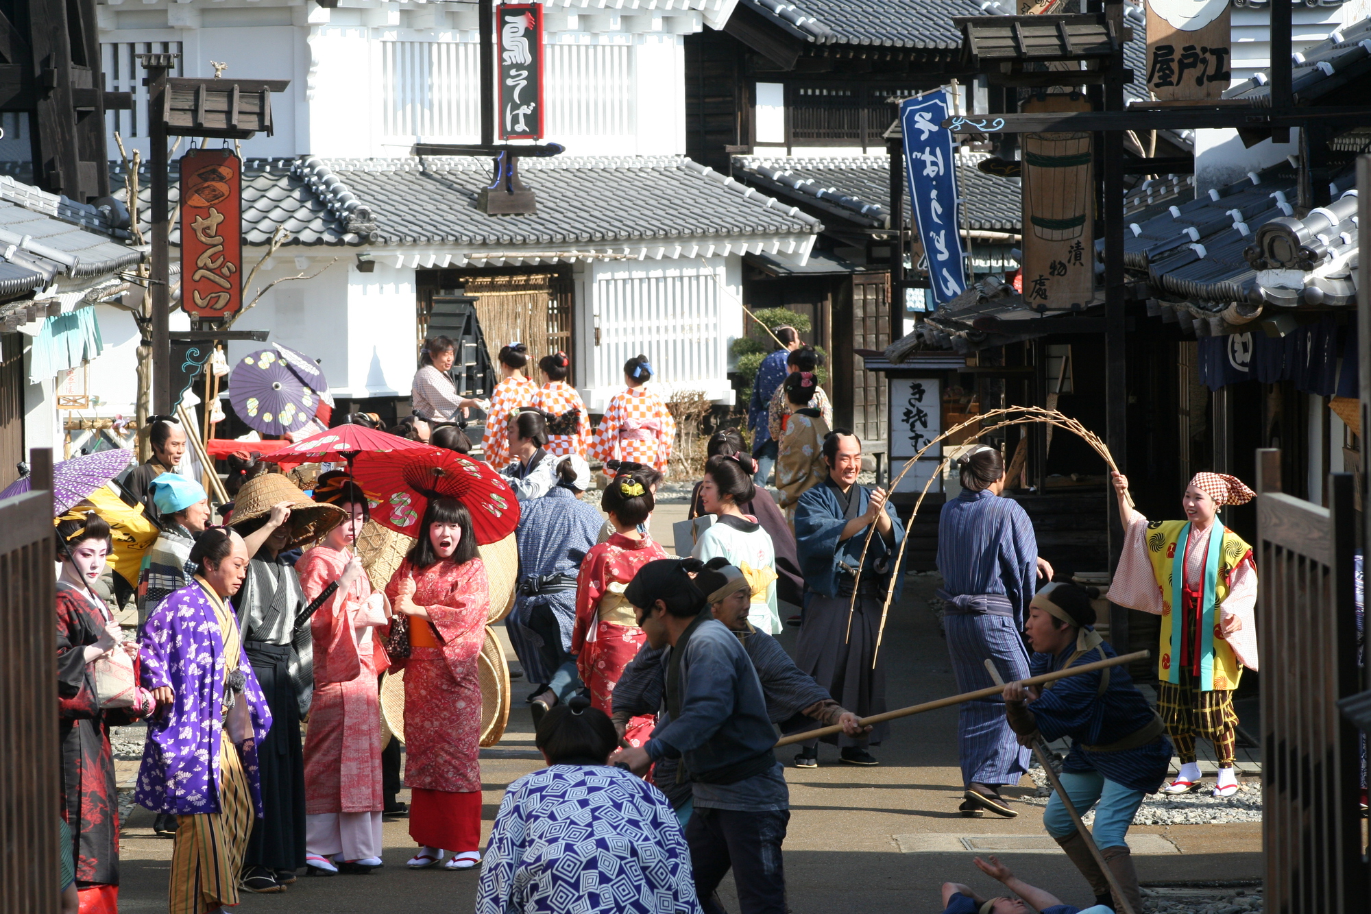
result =
[[[587,552],[581,563],[572,653],[581,682],[591,690],[591,705],[610,714],[614,685],[646,638],[638,627],[638,613],[624,598],[624,587],[639,568],[668,556],[648,534],[638,531],[653,513],[653,493],[642,473],[616,476],[600,498],[600,508],[616,532]],[[651,731],[653,716],[642,715],[628,722],[624,738],[642,745]]]

